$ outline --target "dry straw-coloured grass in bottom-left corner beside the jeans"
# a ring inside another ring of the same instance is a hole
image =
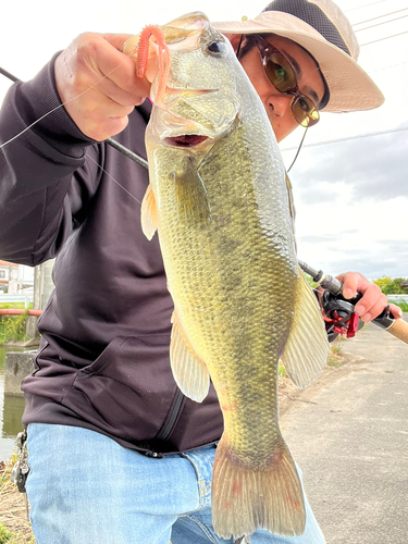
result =
[[[36,544],[23,493],[10,480],[16,457],[0,462],[0,544]]]

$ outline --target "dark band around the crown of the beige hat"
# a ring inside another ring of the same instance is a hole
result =
[[[281,11],[301,18],[305,23],[318,30],[327,41],[333,44],[333,46],[338,47],[351,57],[350,50],[335,25],[314,3],[307,0],[273,0],[263,11]]]

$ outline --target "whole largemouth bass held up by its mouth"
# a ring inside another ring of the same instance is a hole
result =
[[[298,265],[284,163],[228,39],[201,12],[159,28],[165,42],[156,33],[146,53],[153,107],[140,214],[146,236],[158,233],[174,301],[174,379],[197,403],[211,380],[223,413],[213,527],[237,542],[258,528],[300,535],[305,498],[279,425],[279,363],[304,387],[329,343]],[[124,52],[135,49],[133,40]]]

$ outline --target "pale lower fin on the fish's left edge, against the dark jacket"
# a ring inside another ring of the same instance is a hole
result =
[[[210,374],[206,363],[197,357],[190,346],[175,311],[172,322],[170,363],[174,380],[184,395],[196,403],[201,403],[208,395]]]

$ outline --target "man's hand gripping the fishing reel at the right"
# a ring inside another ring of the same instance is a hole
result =
[[[362,321],[371,321],[384,310],[387,306],[387,297],[378,285],[369,282],[358,272],[347,272],[341,274],[337,280],[343,283],[343,296],[353,298],[356,293],[361,293],[362,297],[356,305],[356,312],[359,313]],[[394,318],[400,318],[403,312],[398,306],[390,305],[391,313]]]

